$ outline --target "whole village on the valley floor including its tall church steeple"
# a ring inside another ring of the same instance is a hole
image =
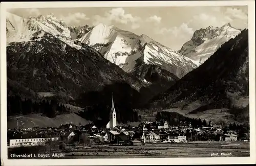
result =
[[[49,151],[68,152],[92,146],[143,147],[159,144],[187,144],[193,141],[248,141],[231,127],[222,129],[211,121],[201,127],[188,122],[169,125],[167,121],[144,121],[138,126],[118,125],[112,98],[110,121],[88,125],[62,124],[59,127],[19,128],[8,130],[8,148],[48,147]],[[47,150],[45,150],[47,151]],[[98,153],[96,153],[98,154]]]

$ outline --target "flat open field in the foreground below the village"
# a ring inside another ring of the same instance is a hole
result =
[[[32,152],[31,152],[32,153]],[[64,153],[64,152],[51,152]],[[219,154],[213,156],[212,154]],[[229,154],[223,155],[222,153]],[[231,154],[230,154],[231,153]],[[47,153],[49,154],[49,152]],[[249,143],[195,141],[187,144],[146,144],[145,146],[98,145],[84,149],[73,149],[60,158],[145,158],[145,157],[246,157]],[[57,157],[50,157],[57,159]],[[38,159],[38,158],[37,158]]]

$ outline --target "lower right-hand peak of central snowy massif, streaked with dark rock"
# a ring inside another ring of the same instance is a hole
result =
[[[131,55],[126,58],[125,65],[122,68],[125,72],[135,72],[138,66],[143,64],[157,65],[178,78],[183,77],[198,66],[195,61],[182,56],[144,34],[138,38]]]

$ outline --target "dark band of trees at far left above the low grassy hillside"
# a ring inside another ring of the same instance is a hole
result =
[[[57,114],[69,113],[70,108],[56,100],[33,101],[22,99],[19,96],[7,98],[7,115],[42,113],[48,117],[55,117]]]

